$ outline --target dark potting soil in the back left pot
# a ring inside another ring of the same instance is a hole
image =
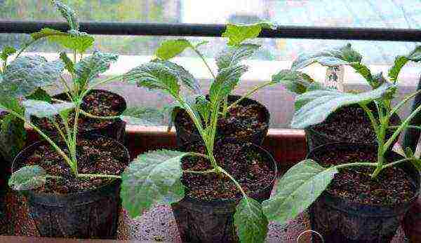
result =
[[[62,100],[67,100],[67,97],[60,97]],[[124,109],[124,100],[119,95],[103,90],[93,90],[90,94],[83,97],[81,109],[95,116],[119,116]],[[55,132],[55,127],[47,118],[32,118],[35,124],[38,124],[43,130],[48,132]],[[61,124],[61,119],[56,118],[58,124]],[[114,119],[93,119],[87,118],[79,114],[79,130],[95,130],[106,127],[113,123]],[[74,113],[69,115],[69,125],[74,124]],[[73,125],[72,125],[73,127]]]

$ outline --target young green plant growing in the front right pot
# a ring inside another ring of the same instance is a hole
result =
[[[341,53],[342,55],[344,53]],[[340,62],[349,64],[347,60],[339,57]],[[307,209],[321,195],[323,190],[329,186],[333,176],[339,169],[345,167],[372,167],[370,174],[376,179],[383,169],[399,165],[403,162],[411,162],[415,168],[421,171],[421,160],[415,158],[413,151],[406,148],[405,158],[389,162],[385,160],[385,153],[393,145],[395,139],[406,128],[421,129],[418,126],[409,126],[410,120],[420,112],[421,106],[417,107],[400,125],[390,125],[390,118],[403,107],[403,105],[421,91],[413,92],[406,96],[401,102],[392,105],[392,99],[398,90],[396,81],[399,72],[406,62],[421,61],[421,47],[418,46],[409,55],[396,57],[394,66],[389,70],[389,81],[386,78],[375,78],[370,70],[361,63],[352,64],[360,74],[366,78],[373,90],[358,94],[338,92],[336,90],[310,90],[298,95],[295,101],[295,114],[292,120],[292,127],[305,128],[323,122],[330,113],[342,106],[359,104],[366,111],[370,122],[373,125],[377,138],[377,161],[376,162],[354,162],[332,167],[321,167],[314,160],[303,160],[293,166],[277,182],[276,194],[269,200],[263,202],[263,211],[271,221],[286,223],[295,218],[302,211]],[[314,62],[314,57],[308,56],[301,60],[302,63]],[[297,62],[295,62],[297,64]],[[293,65],[294,66],[294,65]],[[300,67],[300,65],[298,65]],[[291,70],[294,71],[294,70]],[[377,110],[377,118],[368,107],[368,103],[374,102]],[[387,130],[394,130],[392,137],[386,138]]]

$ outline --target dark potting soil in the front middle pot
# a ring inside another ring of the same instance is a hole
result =
[[[205,153],[203,146],[195,145],[189,151]],[[269,167],[269,161],[262,157],[250,143],[223,144],[214,151],[218,165],[238,181],[243,190],[252,195],[272,183],[275,172]],[[203,171],[212,169],[205,158],[185,157],[182,169]],[[187,187],[186,195],[199,200],[236,199],[241,192],[227,176],[210,174],[183,173],[182,183]]]

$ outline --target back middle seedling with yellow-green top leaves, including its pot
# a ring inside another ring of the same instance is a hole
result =
[[[222,37],[229,39],[227,46],[215,58],[218,72],[227,68],[230,64],[234,65],[241,60],[252,57],[260,48],[260,45],[254,43],[244,43],[247,39],[257,37],[262,28],[274,28],[269,23],[258,23],[255,25],[227,25]],[[249,32],[236,32],[240,29]],[[210,76],[215,80],[217,76],[210,68],[208,62],[203,57],[199,48],[206,41],[193,45],[187,39],[175,39],[163,41],[161,46],[156,50],[156,57],[159,60],[166,61],[182,53],[186,49],[191,49],[196,53],[208,69]],[[256,85],[253,89],[246,92],[245,95],[232,95],[222,103],[220,107],[220,116],[218,119],[218,138],[232,138],[243,141],[250,141],[254,144],[262,144],[263,139],[269,129],[269,111],[265,106],[256,102],[250,97],[258,90],[270,85],[278,83],[277,81],[265,81]],[[234,90],[233,90],[234,91]],[[208,96],[206,96],[208,99]],[[174,108],[172,106],[172,108]],[[180,108],[180,107],[179,107]],[[173,122],[176,128],[178,145],[185,147],[192,141],[200,140],[200,134],[196,130],[193,120],[189,117],[187,111],[182,109],[173,110]],[[171,128],[172,125],[170,125]]]

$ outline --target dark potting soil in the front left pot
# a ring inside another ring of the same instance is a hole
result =
[[[62,150],[69,154],[66,148]],[[79,139],[77,141],[76,156],[78,170],[81,174],[110,174],[119,175],[127,166],[126,151],[116,142],[105,137],[95,139]],[[69,165],[49,145],[37,147],[32,155],[25,160],[25,165],[39,165],[47,174],[61,176],[63,179],[47,179],[44,186],[36,189],[42,193],[78,193],[84,190],[98,188],[112,179],[76,178]]]

